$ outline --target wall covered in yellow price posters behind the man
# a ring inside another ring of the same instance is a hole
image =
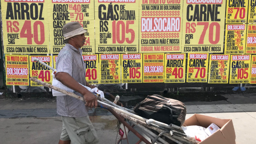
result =
[[[87,30],[86,80],[256,83],[256,0],[1,0],[6,85],[51,83],[62,27]],[[183,86],[185,86],[183,85]],[[156,85],[155,85],[156,86]],[[127,88],[127,87],[126,87]]]

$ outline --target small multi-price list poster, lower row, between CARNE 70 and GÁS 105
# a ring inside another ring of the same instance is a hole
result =
[[[208,83],[228,83],[229,54],[210,54]]]

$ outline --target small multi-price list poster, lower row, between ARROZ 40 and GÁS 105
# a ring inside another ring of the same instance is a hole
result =
[[[100,83],[121,83],[121,54],[100,54]]]

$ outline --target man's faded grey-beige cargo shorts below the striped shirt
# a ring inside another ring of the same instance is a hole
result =
[[[71,140],[71,143],[93,144],[98,143],[98,135],[89,119],[86,117],[61,116],[62,133],[60,140]]]

